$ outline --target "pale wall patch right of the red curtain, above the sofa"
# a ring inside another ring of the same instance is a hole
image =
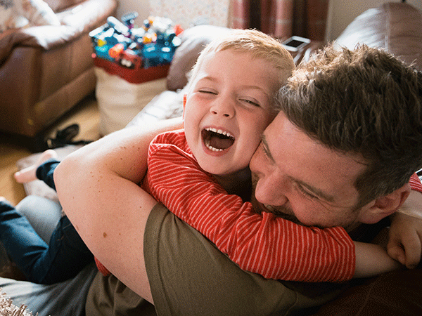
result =
[[[359,14],[386,2],[401,2],[401,0],[330,0],[326,39],[328,41],[336,39]],[[421,0],[406,2],[422,11]]]

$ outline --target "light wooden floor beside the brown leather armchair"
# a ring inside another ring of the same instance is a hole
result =
[[[99,112],[94,96],[89,96],[75,107],[72,112],[58,121],[49,131],[47,137],[54,137],[57,129],[77,123],[79,134],[75,140],[96,140],[100,138],[98,131]],[[0,134],[0,197],[6,197],[13,204],[20,202],[25,197],[23,185],[16,183],[13,173],[18,171],[16,162],[32,152],[19,140]]]

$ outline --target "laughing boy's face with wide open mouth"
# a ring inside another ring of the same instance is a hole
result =
[[[186,99],[184,129],[205,171],[229,175],[245,169],[275,114],[279,74],[263,59],[226,50],[205,57]]]

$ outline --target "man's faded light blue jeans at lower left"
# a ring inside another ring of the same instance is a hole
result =
[[[60,204],[30,196],[25,197],[16,209],[30,221],[37,235],[48,242],[61,217]],[[0,256],[1,263],[7,261],[3,251]],[[97,273],[95,264],[91,263],[76,277],[64,282],[46,285],[0,277],[0,287],[15,305],[27,305],[33,315],[39,312],[39,316],[84,316],[87,293]]]

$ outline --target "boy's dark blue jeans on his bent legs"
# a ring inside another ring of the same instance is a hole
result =
[[[37,177],[53,188],[57,164],[49,161],[37,170]],[[60,218],[46,244],[27,218],[7,202],[0,202],[0,241],[27,280],[34,283],[65,281],[94,261],[67,216]]]

